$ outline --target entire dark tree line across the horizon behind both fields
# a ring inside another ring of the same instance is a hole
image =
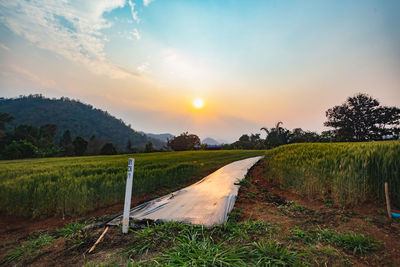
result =
[[[266,133],[243,134],[232,144],[224,144],[219,149],[270,149],[280,145],[305,142],[356,142],[399,139],[400,109],[381,106],[379,101],[367,94],[357,94],[347,98],[342,105],[326,111],[325,126],[333,129],[321,134],[301,128],[288,130],[279,121],[274,127],[262,127]],[[0,113],[0,157],[20,159],[52,156],[113,155],[118,153],[164,152],[208,149],[195,134],[184,132],[168,140],[166,146],[155,149],[151,141],[143,149],[133,147],[128,139],[124,150],[111,141],[93,135],[86,140],[81,136],[72,138],[69,130],[64,131],[58,143],[55,142],[57,125],[44,124],[40,127],[21,124],[11,131],[6,124],[13,121],[7,113]],[[215,147],[213,148],[215,149]]]

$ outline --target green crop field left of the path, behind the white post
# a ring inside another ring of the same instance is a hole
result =
[[[0,161],[0,211],[75,216],[123,201],[128,158],[133,195],[186,185],[225,164],[264,151],[196,151]]]

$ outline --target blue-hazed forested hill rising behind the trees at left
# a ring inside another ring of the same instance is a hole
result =
[[[19,124],[41,126],[53,123],[58,126],[56,141],[64,131],[70,130],[72,137],[82,136],[111,140],[119,148],[125,148],[128,139],[132,146],[142,148],[151,141],[155,147],[163,142],[132,130],[122,120],[110,115],[107,111],[96,109],[91,105],[69,98],[49,99],[41,95],[23,96],[20,98],[0,98],[0,112],[14,117],[9,127]]]

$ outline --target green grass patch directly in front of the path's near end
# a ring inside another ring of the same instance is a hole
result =
[[[270,238],[266,241],[276,229],[262,221],[207,228],[168,222],[132,232],[133,245],[123,251],[132,259],[128,266],[308,265],[304,253],[292,251]],[[144,255],[148,256],[145,260]]]

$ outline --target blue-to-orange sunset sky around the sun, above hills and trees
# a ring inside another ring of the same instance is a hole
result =
[[[0,96],[225,142],[278,121],[321,132],[359,92],[400,106],[398,14],[398,0],[0,0]]]

